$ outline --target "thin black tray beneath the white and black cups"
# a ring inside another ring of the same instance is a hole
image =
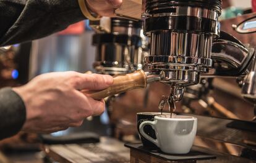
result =
[[[131,151],[137,151],[143,154],[146,154],[147,156],[156,157],[158,159],[161,159],[163,161],[175,161],[175,162],[196,162],[196,161],[202,161],[202,160],[209,160],[209,159],[216,159],[216,156],[202,153],[200,151],[190,151],[188,154],[166,154],[158,150],[151,150],[148,148],[145,148],[142,143],[127,143],[127,148],[130,148]]]

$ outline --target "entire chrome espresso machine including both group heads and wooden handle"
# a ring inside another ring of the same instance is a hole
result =
[[[145,88],[156,81],[164,83],[169,85],[168,97],[164,98],[168,100],[164,103],[172,106],[171,109],[179,104],[181,109],[176,109],[176,114],[192,114],[198,119],[192,149],[211,157],[211,160],[200,161],[186,155],[183,162],[256,162],[256,111],[252,111],[256,98],[256,44],[246,44],[248,42],[241,39],[245,35],[236,35],[242,33],[239,24],[255,14],[219,22],[221,6],[221,0],[147,0],[143,33],[149,38],[149,44],[145,44],[147,38],[142,35],[140,22],[123,18],[91,22],[96,30],[93,45],[97,50],[93,66],[97,73],[113,75],[114,84],[99,92],[86,92],[87,95],[96,100],[109,96],[116,99],[116,94],[127,90]],[[221,31],[223,28],[230,30]],[[242,25],[242,28],[251,27]],[[250,34],[250,39],[252,36],[255,35]],[[220,105],[215,101],[217,98],[245,116]],[[197,105],[193,106],[194,102]],[[198,114],[198,104],[203,109],[201,114]],[[218,114],[213,114],[215,112]],[[73,154],[80,151],[86,155],[81,150],[76,147]],[[140,156],[145,158],[143,162],[154,162],[152,153],[132,152],[134,150],[131,150],[130,162],[136,162],[135,157]],[[157,158],[155,162],[164,162],[159,153],[153,153]]]

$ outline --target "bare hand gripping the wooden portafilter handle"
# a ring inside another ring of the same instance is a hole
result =
[[[85,117],[103,113],[105,103],[93,100],[79,90],[101,90],[112,83],[111,76],[70,71],[42,74],[26,85],[14,88],[27,108],[27,120],[22,130],[51,133],[80,126]]]

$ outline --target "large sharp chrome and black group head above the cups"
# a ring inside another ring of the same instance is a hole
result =
[[[198,84],[200,74],[213,65],[211,46],[220,33],[221,1],[210,2],[212,8],[208,2],[147,1],[144,33],[151,37],[151,47],[144,62],[149,71],[163,73],[161,82],[174,87]],[[175,93],[173,98],[183,95]]]

